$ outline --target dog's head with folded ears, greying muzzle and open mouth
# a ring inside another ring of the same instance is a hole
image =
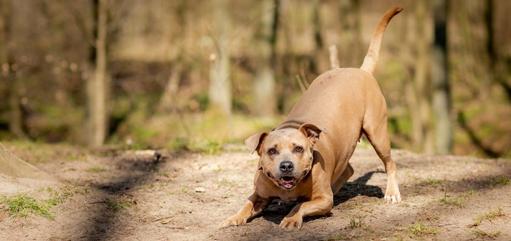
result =
[[[293,189],[312,168],[312,147],[325,129],[304,124],[300,129],[280,129],[255,134],[245,140],[247,147],[258,151],[264,175],[284,189]]]

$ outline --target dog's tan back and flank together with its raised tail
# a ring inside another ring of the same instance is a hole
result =
[[[342,173],[345,169],[346,165],[338,163],[347,163],[351,158],[363,134],[367,109],[371,112],[385,112],[386,117],[385,98],[372,74],[378,62],[383,32],[392,17],[401,10],[403,8],[393,8],[382,17],[360,69],[337,68],[318,76],[291,109],[287,120],[276,128],[284,129],[305,123],[325,127],[327,133],[322,134],[315,149],[326,155],[325,159],[335,160],[334,163],[325,163],[331,175]]]

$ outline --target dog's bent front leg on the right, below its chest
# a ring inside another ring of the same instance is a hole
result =
[[[296,205],[293,210],[280,222],[280,227],[289,229],[300,229],[302,218],[307,216],[323,215],[331,210],[334,205],[333,196],[319,196],[308,202]]]

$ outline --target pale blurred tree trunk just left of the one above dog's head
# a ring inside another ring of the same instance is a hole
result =
[[[231,21],[226,0],[214,1],[215,11],[215,54],[211,56],[209,70],[209,102],[213,112],[231,116],[231,72],[229,70],[229,34]]]

